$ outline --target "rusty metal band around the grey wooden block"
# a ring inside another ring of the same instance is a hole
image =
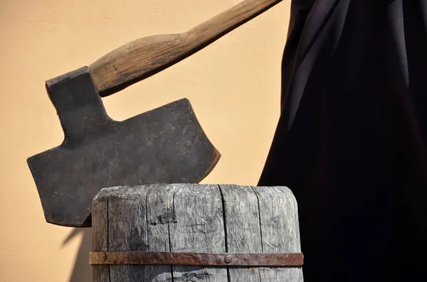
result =
[[[302,253],[186,253],[169,251],[91,251],[90,264],[147,264],[186,266],[302,266]]]

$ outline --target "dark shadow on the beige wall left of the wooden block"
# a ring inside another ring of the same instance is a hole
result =
[[[83,239],[78,249],[70,281],[68,282],[92,281],[92,266],[89,264],[89,252],[92,249],[92,228],[75,228],[64,240],[63,246],[68,244],[75,236],[81,236],[81,234],[83,234]]]

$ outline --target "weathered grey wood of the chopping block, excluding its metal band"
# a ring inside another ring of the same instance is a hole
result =
[[[285,187],[171,184],[107,188],[93,200],[94,251],[300,252]],[[300,267],[94,265],[93,281],[289,281]]]

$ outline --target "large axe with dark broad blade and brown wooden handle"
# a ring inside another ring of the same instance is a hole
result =
[[[178,63],[280,1],[243,1],[189,31],[139,38],[46,81],[64,140],[27,159],[46,222],[90,227],[102,188],[204,179],[221,155],[187,99],[114,121],[101,97]]]

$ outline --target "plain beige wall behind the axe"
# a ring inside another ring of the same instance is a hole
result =
[[[26,158],[63,139],[45,80],[129,40],[186,31],[240,0],[0,0],[0,281],[91,281],[90,229],[47,224]],[[204,183],[255,185],[280,104],[290,1],[104,99],[126,119],[187,97],[222,158]]]

